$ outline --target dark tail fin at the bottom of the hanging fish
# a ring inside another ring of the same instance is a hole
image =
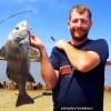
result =
[[[23,105],[23,104],[30,104],[30,103],[34,103],[32,98],[30,98],[27,93],[26,94],[19,94],[18,99],[17,99],[16,107],[20,107],[20,105]]]

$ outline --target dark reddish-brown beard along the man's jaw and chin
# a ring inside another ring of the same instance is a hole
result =
[[[75,40],[75,41],[79,41],[79,42],[84,41],[88,38],[88,33],[89,33],[89,30],[85,31],[80,37],[75,37],[74,33],[71,31],[72,39]]]

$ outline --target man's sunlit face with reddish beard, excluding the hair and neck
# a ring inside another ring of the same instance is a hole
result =
[[[73,40],[83,41],[91,27],[91,20],[87,11],[79,13],[75,10],[71,13],[71,19],[68,22],[71,36]]]

